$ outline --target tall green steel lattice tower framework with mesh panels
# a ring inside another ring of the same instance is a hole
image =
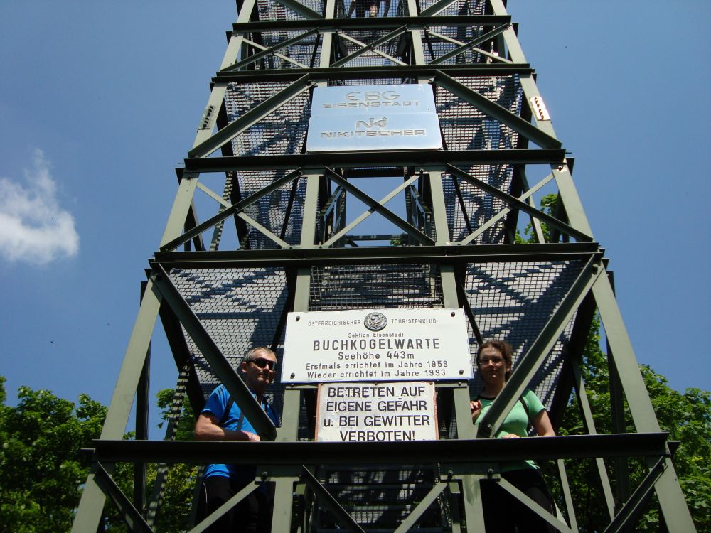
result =
[[[634,528],[655,492],[668,531],[693,531],[606,259],[574,188],[573,161],[503,0],[378,5],[381,16],[364,18],[357,9],[351,16],[343,0],[237,2],[149,262],[74,530],[97,530],[104,506],[115,505],[130,529],[152,531],[167,465],[258,457],[256,481],[275,486],[274,532],[483,531],[483,479],[498,481],[560,531],[577,531],[565,465],[581,458],[597,472],[606,531]],[[314,87],[387,84],[432,86],[443,150],[306,152]],[[548,214],[535,198],[551,192],[557,202]],[[527,223],[535,242],[517,243]],[[272,399],[282,424],[275,428],[234,370],[242,354],[267,345],[281,360],[289,311],[360,308],[463,308],[471,353],[483,340],[506,338],[515,372],[479,426],[469,408],[476,379],[437,382],[439,441],[314,442],[313,384],[277,382]],[[614,434],[597,434],[581,372],[596,312],[608,343]],[[178,370],[176,416],[183,397],[199,413],[223,383],[262,443],[174,441],[174,424],[166,440],[148,440],[158,318]],[[487,438],[527,388],[554,426],[573,398],[587,434]],[[134,399],[137,438],[123,441]],[[499,461],[525,458],[555,463],[557,516],[499,475]],[[649,465],[636,486],[630,458]],[[126,461],[137,464],[133,495],[111,475],[114,463]],[[151,496],[146,463],[165,465]]]

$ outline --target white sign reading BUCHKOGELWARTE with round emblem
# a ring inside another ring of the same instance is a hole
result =
[[[461,309],[289,313],[282,383],[471,379]]]

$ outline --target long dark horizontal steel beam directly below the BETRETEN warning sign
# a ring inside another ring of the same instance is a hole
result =
[[[407,442],[93,441],[92,461],[265,465],[474,465],[515,460],[661,457],[668,434],[630,433]],[[442,466],[444,471],[448,467]]]

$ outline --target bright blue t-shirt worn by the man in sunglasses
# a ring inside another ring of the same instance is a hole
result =
[[[256,398],[256,394],[252,392],[252,396]],[[224,422],[220,424],[224,429],[230,429],[232,431],[250,431],[250,433],[257,433],[247,417],[242,414],[242,410],[237,406],[237,402],[232,402],[230,407],[230,413],[226,418],[225,408],[227,407],[228,400],[230,399],[230,393],[225,389],[225,385],[220,385],[210,394],[208,401],[205,402],[205,407],[201,411],[201,414],[212,414],[218,420]],[[279,426],[279,417],[274,413],[274,409],[267,402],[262,402],[262,409],[267,413],[274,426]],[[255,467],[250,465],[223,465],[223,464],[212,464],[205,467],[204,477],[208,478],[210,475],[222,475],[225,478],[232,478],[239,480],[244,483],[251,483],[255,479]]]

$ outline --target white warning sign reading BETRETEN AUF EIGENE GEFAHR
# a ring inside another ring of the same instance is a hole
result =
[[[434,441],[433,382],[319,385],[316,441]]]

